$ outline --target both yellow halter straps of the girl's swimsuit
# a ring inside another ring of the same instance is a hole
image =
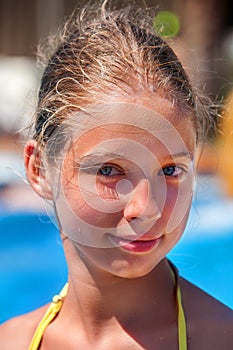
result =
[[[172,266],[172,265],[171,265]],[[176,300],[177,300],[177,323],[178,323],[178,340],[179,340],[179,350],[187,350],[187,331],[186,331],[186,321],[184,310],[182,306],[181,290],[178,284],[178,276],[176,269],[172,266],[171,269],[172,277],[176,287]],[[39,350],[40,343],[43,334],[47,326],[54,320],[61,310],[63,298],[66,296],[68,290],[68,283],[63,287],[60,294],[53,297],[52,303],[50,304],[47,312],[39,323],[36,332],[33,336],[32,342],[28,350]]]

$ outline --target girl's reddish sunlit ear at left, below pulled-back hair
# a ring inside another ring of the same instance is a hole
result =
[[[25,146],[24,166],[33,190],[42,198],[52,199],[52,190],[42,168],[41,151],[34,140],[29,141]]]

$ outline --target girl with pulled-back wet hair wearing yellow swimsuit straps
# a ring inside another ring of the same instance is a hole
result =
[[[81,12],[48,61],[25,168],[53,203],[69,281],[1,327],[1,350],[233,348],[232,312],[166,259],[210,115],[139,14]]]

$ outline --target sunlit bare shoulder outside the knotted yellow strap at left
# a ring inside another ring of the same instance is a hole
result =
[[[28,349],[33,334],[48,306],[12,318],[0,326],[1,350]]]

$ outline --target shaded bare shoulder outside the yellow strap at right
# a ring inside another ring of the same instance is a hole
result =
[[[180,284],[190,349],[233,349],[233,310],[182,278]]]

